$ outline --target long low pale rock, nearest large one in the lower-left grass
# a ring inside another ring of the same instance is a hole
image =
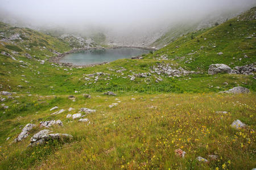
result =
[[[49,130],[41,130],[39,133],[35,134],[30,139],[30,145],[28,146],[37,146],[43,145],[47,141],[57,140],[57,141],[70,141],[73,136],[70,134],[62,134],[62,133],[55,133],[55,134],[48,134]]]

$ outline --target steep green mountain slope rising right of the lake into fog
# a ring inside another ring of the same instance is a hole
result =
[[[225,63],[232,68],[254,63],[255,10],[255,7],[251,8],[217,27],[188,33],[148,58],[167,55],[167,58],[194,71],[207,71],[212,63]]]

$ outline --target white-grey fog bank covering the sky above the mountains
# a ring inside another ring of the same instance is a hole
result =
[[[1,19],[29,27],[78,32],[141,32],[230,12],[242,12],[255,0],[0,0]]]

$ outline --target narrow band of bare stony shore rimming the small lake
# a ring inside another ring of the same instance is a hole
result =
[[[72,49],[69,50],[68,52],[64,52],[59,54],[58,56],[51,57],[49,58],[49,62],[52,63],[57,63],[59,65],[65,66],[65,67],[93,67],[96,65],[104,65],[105,63],[109,62],[102,62],[102,63],[94,63],[94,64],[89,64],[89,65],[75,65],[73,63],[68,63],[68,62],[60,62],[62,58],[67,56],[68,54],[76,53],[76,52],[82,52],[85,50],[105,50],[105,49],[118,49],[118,48],[138,48],[138,49],[144,49],[144,50],[156,50],[155,48],[149,48],[149,47],[143,47],[143,46],[110,46],[110,47],[102,47],[102,46],[97,46],[97,47],[92,47],[92,48],[80,48],[80,49]],[[141,59],[139,58],[140,56],[137,57],[131,57],[131,59]]]

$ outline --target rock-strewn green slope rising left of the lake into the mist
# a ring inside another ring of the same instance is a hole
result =
[[[30,54],[35,59],[46,59],[71,49],[67,42],[55,37],[5,23],[0,23],[0,35],[0,50],[12,56]]]

